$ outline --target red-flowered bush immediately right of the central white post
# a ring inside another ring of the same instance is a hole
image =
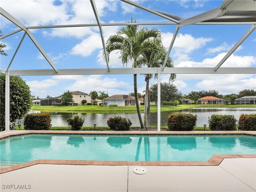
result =
[[[197,115],[191,113],[172,113],[167,117],[170,131],[192,131],[196,126]]]

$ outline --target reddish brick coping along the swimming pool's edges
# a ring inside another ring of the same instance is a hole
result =
[[[193,131],[193,132],[154,132],[154,131],[22,131],[6,133],[0,136],[8,138],[27,134],[97,134],[97,135],[248,135],[256,136],[256,132],[247,131]],[[218,166],[224,158],[256,158],[256,154],[215,154],[208,161],[94,161],[94,160],[34,160],[23,164],[0,168],[0,174],[26,168],[37,164],[59,164],[59,165],[108,165],[108,166]]]

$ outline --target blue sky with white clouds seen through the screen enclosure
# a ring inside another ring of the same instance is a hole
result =
[[[147,8],[190,18],[212,10],[222,0],[133,0]],[[102,23],[169,22],[168,20],[117,0],[96,0]],[[1,0],[1,7],[25,26],[96,23],[89,0]],[[18,27],[0,16],[2,34]],[[250,28],[249,25],[190,25],[180,28],[170,57],[174,67],[215,67],[232,46]],[[162,32],[166,49],[170,46],[176,25],[145,26]],[[102,26],[104,40],[122,26]],[[102,59],[102,41],[98,27],[30,29],[44,51],[58,69],[106,68]],[[0,67],[7,68],[24,32],[1,40],[6,44],[8,56],[1,56]],[[118,52],[110,54],[110,68],[123,66]],[[222,67],[256,67],[256,30],[224,62]],[[10,70],[52,69],[30,38],[26,36],[14,58]],[[80,76],[22,76],[30,86],[32,95],[45,98],[59,96],[66,91],[101,91],[113,94],[133,92],[133,75],[80,75]],[[161,82],[168,82],[168,75],[161,75]],[[150,80],[150,85],[156,83]],[[146,83],[138,75],[138,92],[143,93]],[[256,74],[177,74],[173,82],[182,94],[199,90],[218,90],[220,94],[237,94],[244,89],[256,90]]]

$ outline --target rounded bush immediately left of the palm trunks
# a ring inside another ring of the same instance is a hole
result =
[[[108,127],[115,131],[128,131],[132,122],[130,119],[122,118],[120,116],[114,116],[107,120]]]

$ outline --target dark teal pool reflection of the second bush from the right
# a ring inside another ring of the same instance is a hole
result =
[[[236,138],[234,137],[209,137],[208,140],[214,148],[232,149],[236,145]]]

